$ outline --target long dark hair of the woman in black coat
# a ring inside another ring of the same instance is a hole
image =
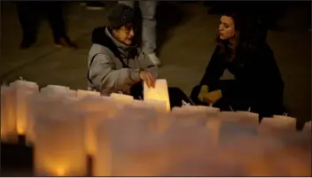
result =
[[[219,52],[229,60],[244,60],[246,55],[258,50],[262,43],[265,43],[267,30],[255,16],[246,13],[229,12],[222,16],[233,19],[236,30],[234,43],[216,38]]]

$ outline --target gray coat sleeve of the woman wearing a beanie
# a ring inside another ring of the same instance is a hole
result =
[[[125,91],[140,81],[140,69],[114,68],[113,60],[106,54],[98,54],[90,66],[90,81],[99,86],[102,94]]]

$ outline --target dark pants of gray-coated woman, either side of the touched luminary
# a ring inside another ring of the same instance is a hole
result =
[[[143,97],[143,83],[138,82],[135,85],[132,86],[130,89],[130,94],[133,96],[135,99],[144,99]],[[182,100],[190,103],[189,97],[185,95],[183,90],[175,87],[169,87],[168,88],[168,94],[169,94],[169,101],[170,101],[170,107],[181,107],[182,106]]]

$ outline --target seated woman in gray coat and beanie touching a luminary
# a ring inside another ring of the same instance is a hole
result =
[[[143,98],[142,81],[153,87],[158,78],[158,67],[132,43],[135,35],[134,11],[125,4],[118,4],[107,19],[109,25],[94,29],[92,34],[89,89],[105,96],[121,91],[136,99]],[[172,107],[181,105],[181,100],[188,98],[181,89],[169,88],[168,92]]]

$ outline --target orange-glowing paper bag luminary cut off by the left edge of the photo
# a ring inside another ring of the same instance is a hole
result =
[[[14,89],[1,86],[1,141],[16,143],[18,133],[16,129],[16,107],[14,107]]]

